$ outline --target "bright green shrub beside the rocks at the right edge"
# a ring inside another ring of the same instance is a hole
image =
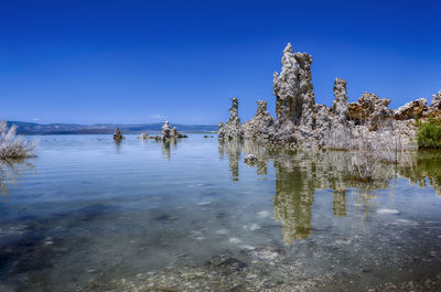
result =
[[[418,147],[441,148],[441,119],[429,117],[428,121],[418,121]]]

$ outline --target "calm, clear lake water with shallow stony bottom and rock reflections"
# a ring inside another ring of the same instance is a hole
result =
[[[0,164],[0,291],[440,291],[441,152],[363,183],[346,152],[29,139]]]

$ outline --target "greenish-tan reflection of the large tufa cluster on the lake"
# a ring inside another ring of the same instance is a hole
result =
[[[233,139],[219,141],[220,156],[224,153],[228,155],[235,182],[239,180],[241,156],[256,155],[257,161],[245,163],[257,167],[259,175],[267,174],[268,162],[272,160],[276,171],[273,218],[281,223],[282,238],[288,245],[311,236],[311,207],[318,190],[333,190],[332,210],[336,217],[347,216],[348,190],[353,190],[354,219],[361,220],[369,215],[376,204],[372,191],[395,187],[390,186],[390,181],[397,177],[406,177],[421,187],[428,181],[437,195],[441,196],[441,153],[433,151],[410,152],[399,164],[383,164],[372,182],[354,179],[352,155],[345,151],[272,150],[259,142]]]

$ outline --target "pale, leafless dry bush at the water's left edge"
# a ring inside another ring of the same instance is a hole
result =
[[[34,142],[17,137],[17,126],[8,128],[6,121],[0,122],[0,159],[23,159],[34,155]]]

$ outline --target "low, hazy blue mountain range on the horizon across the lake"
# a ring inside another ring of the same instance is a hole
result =
[[[17,125],[17,132],[20,134],[84,134],[84,133],[112,133],[119,128],[122,133],[140,133],[140,132],[159,132],[162,122],[155,123],[95,123],[95,125],[77,125],[77,123],[35,123],[24,121],[7,121],[8,126]],[[217,131],[216,125],[180,125],[171,123],[176,127],[180,132],[212,132]]]

